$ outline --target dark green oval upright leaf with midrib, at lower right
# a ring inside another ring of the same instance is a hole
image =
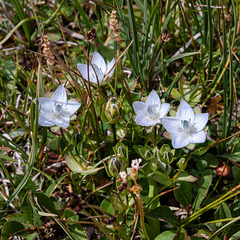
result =
[[[174,191],[176,200],[184,207],[189,206],[192,202],[192,187],[185,181],[179,182],[180,186]]]

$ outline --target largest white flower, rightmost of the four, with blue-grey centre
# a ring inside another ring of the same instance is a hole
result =
[[[162,125],[172,134],[174,148],[182,148],[189,143],[203,143],[206,134],[203,128],[208,121],[208,113],[194,115],[189,104],[181,100],[177,110],[177,117],[165,117],[161,119]]]

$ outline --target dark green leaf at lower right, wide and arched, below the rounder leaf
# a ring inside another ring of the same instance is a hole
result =
[[[158,208],[155,208],[148,212],[145,216],[153,219],[163,220],[172,224],[174,227],[179,226],[177,217],[173,214],[168,206],[160,206]]]

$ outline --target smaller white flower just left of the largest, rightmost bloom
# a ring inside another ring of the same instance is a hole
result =
[[[169,112],[170,104],[161,104],[158,94],[153,90],[146,102],[136,101],[133,103],[133,108],[137,114],[136,123],[148,127],[161,122],[161,118]]]

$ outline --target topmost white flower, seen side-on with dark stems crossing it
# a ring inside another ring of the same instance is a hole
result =
[[[98,53],[94,52],[91,65],[89,65],[89,80],[91,83],[101,84],[104,77],[109,73],[108,78],[111,78],[115,67],[112,69],[112,67],[115,64],[115,59],[113,58],[110,63],[106,65],[103,57]],[[87,64],[78,63],[77,64],[78,70],[80,71],[82,77],[86,80],[88,80],[88,66]],[[111,70],[112,69],[112,70]],[[111,71],[110,71],[111,70]]]

